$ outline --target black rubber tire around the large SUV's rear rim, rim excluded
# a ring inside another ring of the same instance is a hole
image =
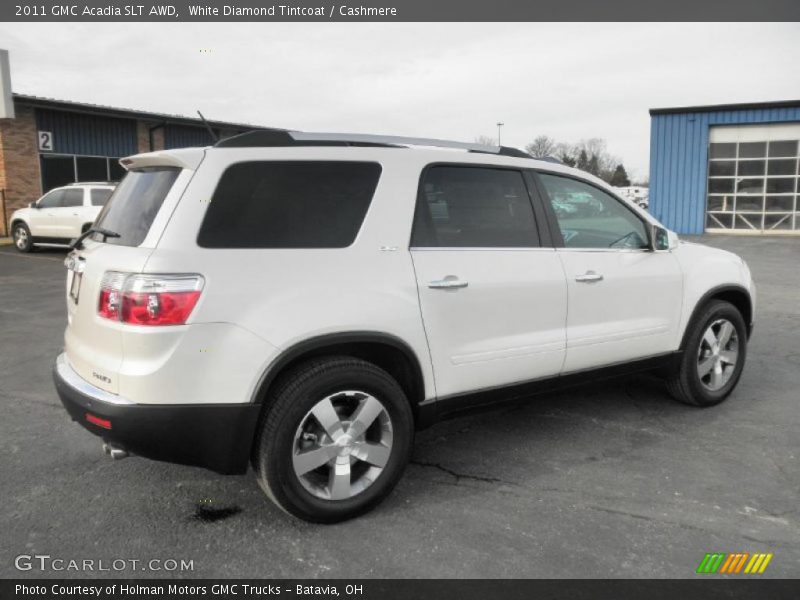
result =
[[[266,460],[266,477],[275,500],[288,512],[309,521],[333,523],[361,515],[386,497],[394,488],[411,457],[414,425],[408,401],[402,389],[388,374],[373,369],[348,366],[331,370],[305,381],[295,390],[296,396],[282,412],[277,434],[264,437],[259,460]],[[323,500],[315,497],[298,480],[292,465],[294,435],[309,410],[325,398],[343,390],[366,392],[386,408],[392,421],[392,451],[380,476],[363,492],[347,500]]]

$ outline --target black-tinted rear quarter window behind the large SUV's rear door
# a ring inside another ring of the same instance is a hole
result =
[[[355,241],[381,167],[259,161],[230,166],[206,211],[205,248],[344,248]]]

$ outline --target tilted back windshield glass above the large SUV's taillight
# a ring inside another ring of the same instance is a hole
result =
[[[141,244],[180,171],[175,167],[158,167],[129,172],[95,221],[95,227],[119,234],[117,238],[106,238],[106,243]],[[93,239],[102,241],[103,236],[95,234]]]

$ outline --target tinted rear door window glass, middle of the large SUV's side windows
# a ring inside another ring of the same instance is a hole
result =
[[[429,168],[411,245],[418,248],[531,248],[539,245],[522,173],[467,166]]]

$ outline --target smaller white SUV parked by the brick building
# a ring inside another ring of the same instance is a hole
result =
[[[35,245],[64,246],[92,226],[114,191],[114,183],[73,183],[50,190],[10,219],[14,246],[30,252]]]

